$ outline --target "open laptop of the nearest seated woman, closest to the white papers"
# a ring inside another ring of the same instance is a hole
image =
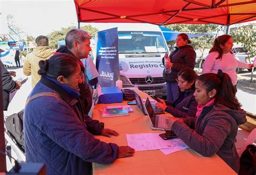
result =
[[[171,130],[170,128],[167,127],[167,124],[165,120],[169,117],[167,116],[156,116],[154,114],[153,107],[151,106],[149,98],[147,98],[146,103],[145,103],[146,111],[147,111],[147,116],[150,118],[151,122],[151,128],[153,130]]]

